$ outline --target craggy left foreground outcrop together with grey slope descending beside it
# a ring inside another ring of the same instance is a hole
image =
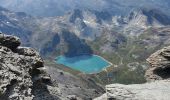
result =
[[[0,33],[0,100],[89,100],[104,92],[88,79],[44,66],[38,52],[20,45]]]

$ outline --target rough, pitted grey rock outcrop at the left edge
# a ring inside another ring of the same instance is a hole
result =
[[[43,60],[31,48],[18,48],[20,43],[17,37],[0,34],[0,100],[34,98],[35,70],[43,67]]]

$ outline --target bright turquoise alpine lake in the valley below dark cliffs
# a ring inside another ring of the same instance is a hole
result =
[[[86,74],[101,72],[111,65],[110,62],[97,55],[81,55],[75,57],[58,56],[57,64],[62,64]]]

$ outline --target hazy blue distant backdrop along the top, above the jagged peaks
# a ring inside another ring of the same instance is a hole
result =
[[[63,16],[74,9],[108,11],[112,15],[128,14],[132,8],[155,8],[170,15],[169,0],[1,0],[12,11],[34,16]]]

